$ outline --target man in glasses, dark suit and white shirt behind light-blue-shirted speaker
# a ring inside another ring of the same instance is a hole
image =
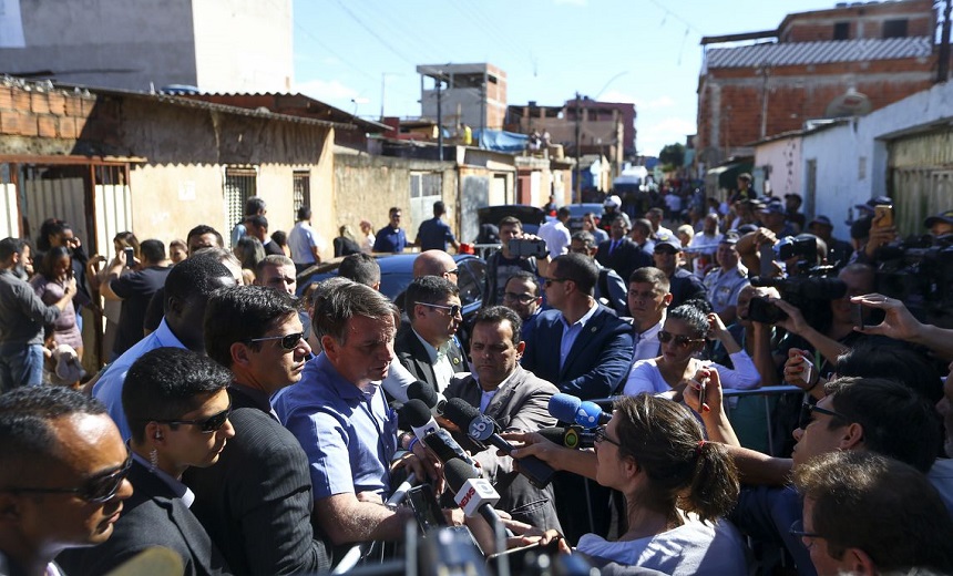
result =
[[[467,372],[467,358],[453,338],[463,322],[460,289],[445,278],[416,278],[404,292],[410,325],[393,342],[397,359],[417,379],[442,392],[457,372]]]

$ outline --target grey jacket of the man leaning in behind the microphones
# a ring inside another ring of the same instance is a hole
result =
[[[535,432],[555,425],[556,419],[550,415],[549,404],[556,392],[559,389],[555,385],[518,364],[483,413],[495,420],[504,431]],[[453,377],[443,393],[448,399],[460,398],[479,409],[483,391],[471,374],[460,374]],[[473,452],[473,459],[480,462],[484,477],[500,493],[501,500],[495,507],[533,526],[562,531],[553,505],[552,485],[540,490],[513,470],[513,459],[510,456],[498,456],[494,448],[480,451],[465,434],[455,433],[453,436],[463,448]]]

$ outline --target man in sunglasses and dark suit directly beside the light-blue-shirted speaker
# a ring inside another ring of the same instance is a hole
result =
[[[193,512],[237,574],[330,567],[311,527],[308,456],[269,403],[300,381],[310,353],[298,306],[280,290],[237,286],[217,290],[205,311],[205,350],[232,371],[235,438],[215,466],[191,469],[184,480]]]

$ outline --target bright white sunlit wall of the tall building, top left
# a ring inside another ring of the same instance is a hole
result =
[[[288,92],[294,83],[291,0],[194,0],[203,92]]]

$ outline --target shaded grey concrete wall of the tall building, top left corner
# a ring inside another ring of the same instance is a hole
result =
[[[0,48],[0,62],[12,75],[49,70],[72,84],[143,91],[150,82],[195,84],[191,4],[20,0],[25,47]]]

